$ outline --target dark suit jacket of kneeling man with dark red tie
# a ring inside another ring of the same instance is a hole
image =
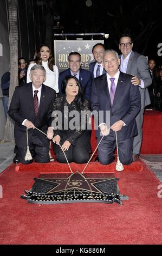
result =
[[[52,122],[51,113],[55,94],[55,90],[42,84],[40,105],[35,117],[32,83],[15,88],[8,110],[9,117],[15,121],[15,142],[27,139],[27,127],[22,125],[24,119],[28,119],[38,129],[47,132],[47,128],[51,126]],[[40,133],[36,129],[29,129],[30,132]],[[41,133],[40,136],[42,136]]]

